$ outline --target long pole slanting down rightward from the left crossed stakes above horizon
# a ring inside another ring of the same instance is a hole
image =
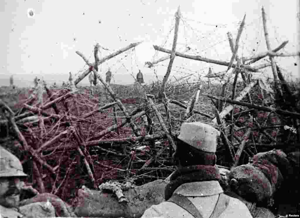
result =
[[[80,57],[82,57],[83,60],[85,60],[86,64],[88,64],[89,66],[91,66],[91,64],[88,63],[87,59],[84,57],[83,54],[81,54],[79,51],[76,51],[76,53]],[[112,88],[110,87],[110,85],[107,84],[107,82],[102,79],[102,77],[96,72],[96,70],[93,67],[91,67],[91,70],[94,72],[94,74],[97,76],[97,78],[101,81],[101,83],[104,85],[104,87],[106,88],[106,90],[110,93],[110,96],[113,98],[113,100],[117,102],[118,106],[120,107],[120,109],[122,110],[122,112],[124,113],[124,115],[126,116],[126,119],[127,119],[128,123],[130,124],[130,126],[131,126],[134,134],[136,136],[139,136],[140,135],[140,131],[137,129],[137,126],[133,122],[130,121],[130,118],[128,116],[126,108],[124,107],[124,105],[122,104],[122,102],[119,99],[117,99],[116,94],[114,93],[114,91],[112,90]]]

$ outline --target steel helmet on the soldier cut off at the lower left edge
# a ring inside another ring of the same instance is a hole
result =
[[[0,146],[0,177],[27,177],[19,159]]]

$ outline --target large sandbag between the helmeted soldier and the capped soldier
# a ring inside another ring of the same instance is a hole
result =
[[[79,189],[74,212],[79,217],[140,217],[153,204],[164,201],[164,180],[155,180],[128,191],[123,191],[127,204],[118,202],[112,193]]]

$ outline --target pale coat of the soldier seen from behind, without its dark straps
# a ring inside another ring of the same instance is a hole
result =
[[[218,194],[223,193],[223,189],[218,181],[204,181],[184,183],[179,186],[174,193],[184,195],[196,206],[203,218],[209,218],[217,203]],[[193,216],[172,202],[162,202],[147,209],[142,218],[165,217],[165,218],[193,218]],[[236,198],[230,197],[229,205],[221,213],[220,218],[251,218],[251,214],[246,205]]]

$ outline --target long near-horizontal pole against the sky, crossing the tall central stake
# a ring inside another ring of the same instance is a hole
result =
[[[153,45],[153,47],[157,51],[162,51],[162,52],[165,52],[165,53],[172,54],[172,51],[169,50],[169,49],[165,49],[165,48],[162,48],[162,47],[157,46],[157,45]],[[229,62],[226,62],[226,61],[213,60],[213,59],[201,57],[201,56],[198,56],[198,55],[195,56],[195,55],[183,54],[183,53],[180,53],[180,52],[177,52],[177,51],[175,52],[175,55],[179,56],[179,57],[184,57],[184,58],[187,58],[187,59],[200,60],[200,61],[204,61],[204,62],[207,62],[207,63],[215,63],[215,64],[219,64],[219,65],[223,65],[223,66],[228,66],[230,64]],[[234,68],[235,66],[236,65],[233,63],[232,67]],[[241,67],[244,67],[245,69],[247,69],[251,72],[259,72],[258,69],[260,69],[260,68],[252,67],[252,66],[249,66],[249,65],[241,65]]]

